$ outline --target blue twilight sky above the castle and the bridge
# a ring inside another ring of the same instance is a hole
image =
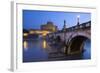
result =
[[[58,29],[62,29],[64,20],[67,27],[76,25],[77,16],[80,16],[80,23],[91,20],[91,13],[23,10],[23,28],[40,29],[40,25],[52,21]]]

